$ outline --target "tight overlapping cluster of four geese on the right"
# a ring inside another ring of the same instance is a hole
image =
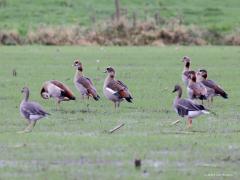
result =
[[[178,92],[173,102],[175,111],[181,117],[187,117],[188,128],[192,127],[192,119],[202,114],[209,114],[209,110],[203,106],[203,100],[213,103],[214,96],[222,96],[227,99],[227,93],[214,81],[208,79],[207,70],[200,69],[197,72],[190,69],[191,59],[184,56],[182,59],[184,68],[182,80],[187,87],[187,99],[182,99],[182,88],[175,85],[173,92]],[[196,100],[202,100],[199,104]],[[176,121],[175,123],[179,122]]]

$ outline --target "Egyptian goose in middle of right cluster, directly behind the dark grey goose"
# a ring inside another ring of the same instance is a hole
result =
[[[195,71],[188,72],[188,79],[187,92],[189,99],[207,99],[207,89],[201,83],[196,82]]]

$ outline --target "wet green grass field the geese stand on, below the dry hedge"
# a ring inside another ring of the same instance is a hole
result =
[[[192,130],[184,119],[170,126],[181,119],[171,91],[182,84],[184,55],[229,94],[228,100],[215,98],[211,110],[217,115],[198,117]],[[90,101],[90,112],[72,82],[75,58],[101,95],[99,102]],[[0,179],[238,179],[239,59],[238,47],[1,47]],[[117,111],[102,94],[102,71],[109,65],[134,97]],[[50,79],[65,82],[78,99],[56,111],[55,102],[39,94]],[[52,114],[30,134],[16,133],[26,126],[18,109],[23,86]],[[125,126],[119,131],[106,133],[120,123]],[[139,170],[135,157],[142,159]]]

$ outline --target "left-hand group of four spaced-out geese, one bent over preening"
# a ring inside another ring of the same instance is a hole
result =
[[[75,60],[73,67],[76,68],[76,74],[74,76],[74,85],[80,92],[82,99],[89,99],[92,97],[98,101],[100,96],[97,93],[96,88],[90,78],[83,75],[83,65],[79,60]],[[132,102],[132,95],[128,90],[128,87],[120,80],[115,79],[115,70],[112,67],[107,67],[105,70],[107,77],[103,85],[103,93],[107,99],[114,103],[114,107],[120,106],[120,103],[125,99],[127,102]],[[29,88],[24,87],[22,89],[24,98],[20,104],[20,113],[27,119],[28,126],[19,133],[31,132],[36,122],[50,115],[46,112],[38,103],[29,101]],[[57,80],[50,80],[43,83],[40,91],[43,99],[53,98],[57,102],[57,108],[59,108],[62,101],[75,100],[75,96],[70,88],[64,83]]]

